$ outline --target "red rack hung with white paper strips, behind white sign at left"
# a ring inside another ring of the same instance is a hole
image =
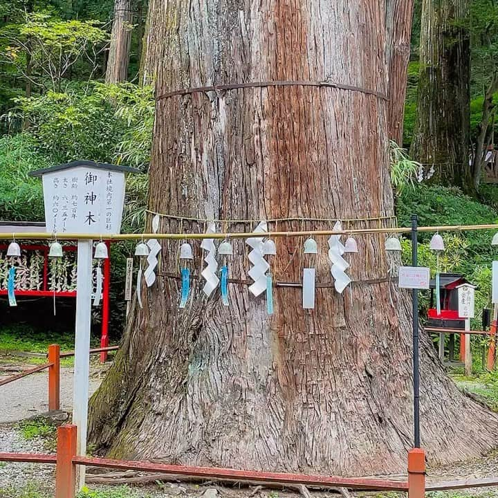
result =
[[[0,221],[0,239],[8,241],[17,232],[45,232],[45,223]],[[106,241],[110,255],[110,243]],[[76,246],[62,246],[64,257],[48,258],[48,244],[20,244],[21,256],[14,257],[16,266],[16,297],[76,297]],[[8,295],[8,268],[12,258],[6,257],[8,243],[0,243],[0,296]],[[109,346],[109,293],[111,259],[104,259],[102,282],[102,331],[100,347]],[[100,353],[100,361],[107,360],[107,352]]]

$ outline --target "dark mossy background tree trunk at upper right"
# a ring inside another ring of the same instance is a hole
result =
[[[423,0],[414,160],[474,192],[469,167],[469,0]]]

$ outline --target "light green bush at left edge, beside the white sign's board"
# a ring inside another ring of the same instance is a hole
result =
[[[0,138],[1,220],[44,220],[42,184],[28,172],[48,165],[26,133]]]

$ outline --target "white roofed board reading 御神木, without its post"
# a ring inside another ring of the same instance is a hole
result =
[[[125,173],[136,169],[76,161],[33,172],[42,176],[46,231],[105,236],[121,229]]]

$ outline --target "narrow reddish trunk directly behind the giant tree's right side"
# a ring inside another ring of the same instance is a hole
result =
[[[403,118],[408,79],[410,39],[412,37],[413,0],[387,0],[386,58],[389,86],[387,126],[389,139],[403,146]]]

